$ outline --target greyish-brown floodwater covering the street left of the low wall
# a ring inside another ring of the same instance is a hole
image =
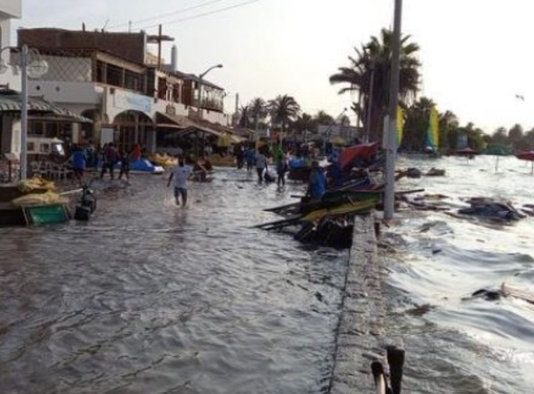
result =
[[[303,187],[218,170],[181,209],[132,184],[87,224],[0,229],[0,391],[324,392],[348,252],[250,229]]]

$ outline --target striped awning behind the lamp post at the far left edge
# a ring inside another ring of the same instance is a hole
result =
[[[20,113],[22,110],[22,96],[14,90],[0,91],[0,114]],[[28,99],[28,114],[50,115],[56,120],[68,120],[79,123],[92,123],[93,121],[84,116],[75,114],[66,108],[59,107],[46,100],[39,98]]]

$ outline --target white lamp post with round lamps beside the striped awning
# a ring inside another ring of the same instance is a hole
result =
[[[5,47],[0,50],[11,50],[11,47]],[[29,63],[30,55],[35,56]],[[23,45],[20,49],[20,66],[21,69],[21,106],[20,106],[20,180],[24,180],[28,175],[28,76],[30,78],[40,78],[48,72],[48,63],[41,58],[41,54],[35,49],[29,49]],[[9,69],[9,65],[2,59],[0,60],[0,74],[4,74]]]

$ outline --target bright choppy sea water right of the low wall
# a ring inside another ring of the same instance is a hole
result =
[[[447,195],[452,206],[476,196],[519,208],[534,203],[530,163],[516,158],[401,159],[402,167],[444,168],[447,177],[402,180]],[[388,253],[387,333],[407,349],[410,393],[531,393],[534,305],[473,299],[505,282],[534,296],[534,218],[511,225],[469,221],[440,212],[403,211],[385,241]],[[423,308],[420,308],[423,306]],[[426,313],[424,313],[426,311]]]

